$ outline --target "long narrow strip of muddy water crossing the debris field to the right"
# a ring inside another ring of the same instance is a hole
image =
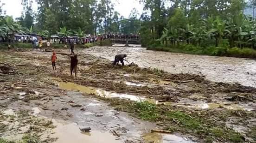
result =
[[[236,104],[230,104],[230,103],[204,103],[204,102],[198,102],[198,101],[187,101],[185,99],[180,99],[181,101],[179,103],[174,102],[159,102],[155,99],[148,99],[141,96],[136,95],[128,95],[128,94],[119,94],[111,91],[106,91],[103,89],[95,89],[93,87],[87,87],[78,85],[76,83],[58,83],[60,89],[66,89],[71,91],[79,91],[81,93],[85,94],[93,94],[97,96],[102,96],[104,98],[122,98],[127,99],[131,101],[148,101],[153,104],[165,104],[165,105],[171,105],[171,106],[179,106],[179,107],[187,107],[187,108],[195,108],[195,109],[208,109],[208,108],[225,108],[228,110],[246,110],[246,111],[252,111],[253,109],[245,106],[245,105],[236,105]],[[137,84],[134,83],[134,86]],[[187,103],[190,103],[187,105]],[[90,103],[88,106],[98,106],[98,103]],[[88,113],[90,114],[90,113]]]

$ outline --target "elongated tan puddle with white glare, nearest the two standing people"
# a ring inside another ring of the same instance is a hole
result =
[[[78,85],[75,83],[59,83],[59,88],[67,89],[67,90],[74,90],[74,91],[77,90],[81,93],[94,94],[94,95],[102,96],[105,98],[122,98],[122,99],[131,100],[131,101],[144,101],[145,100],[145,98],[140,97],[140,96],[128,95],[128,94],[118,94],[115,92],[110,92],[110,91],[106,91],[106,90],[102,90],[102,89],[95,89],[92,87]],[[92,105],[90,103],[89,106],[97,106],[97,105]]]

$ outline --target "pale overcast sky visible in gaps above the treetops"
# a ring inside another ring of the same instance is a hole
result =
[[[135,7],[141,14],[143,11],[143,6],[139,3],[139,0],[112,0],[115,4],[115,11],[119,12],[125,18],[128,18],[131,10]],[[21,5],[21,0],[1,0],[5,5],[2,7],[3,11],[6,11],[6,15],[13,16],[13,18],[18,18],[21,15],[23,7]],[[33,3],[34,11],[37,10],[36,2]]]

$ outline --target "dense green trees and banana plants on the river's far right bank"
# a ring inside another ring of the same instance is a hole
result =
[[[245,16],[245,0],[141,0],[142,45],[255,48],[256,20]],[[169,3],[168,3],[169,2]],[[168,5],[166,5],[168,3]],[[255,5],[255,0],[250,4]]]

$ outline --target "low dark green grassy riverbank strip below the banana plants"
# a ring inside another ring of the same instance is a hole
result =
[[[227,56],[236,58],[250,58],[256,59],[256,50],[252,48],[222,48],[222,47],[197,47],[193,45],[181,45],[179,48],[169,48],[163,46],[149,46],[147,50],[184,53],[184,54],[198,54],[210,56]]]

